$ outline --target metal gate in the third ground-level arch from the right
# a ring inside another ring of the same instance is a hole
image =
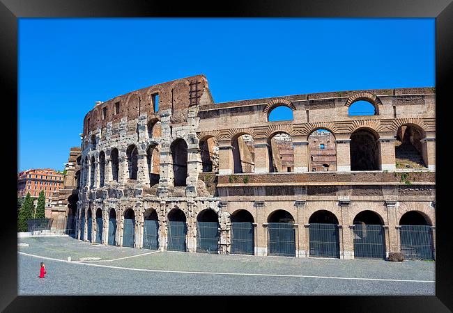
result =
[[[339,258],[338,225],[313,223],[309,226],[311,257]]]

